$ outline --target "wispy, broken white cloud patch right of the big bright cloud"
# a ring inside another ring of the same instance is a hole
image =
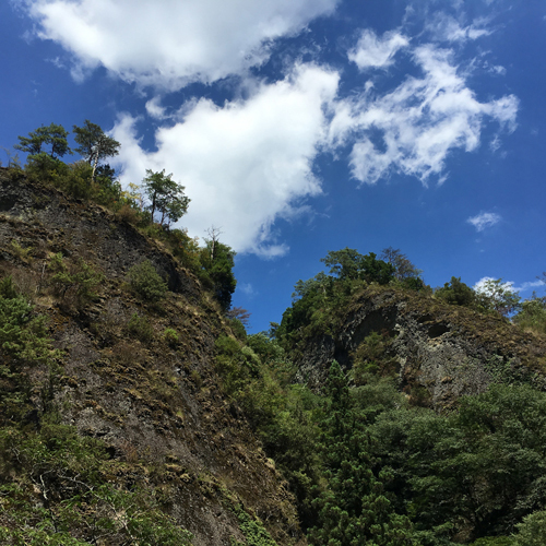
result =
[[[466,85],[450,49],[424,45],[413,49],[422,78],[408,76],[392,92],[375,96],[373,87],[336,105],[330,139],[333,145],[355,140],[353,176],[376,183],[392,173],[439,181],[449,153],[476,150],[486,118],[515,128],[513,95],[480,103]]]

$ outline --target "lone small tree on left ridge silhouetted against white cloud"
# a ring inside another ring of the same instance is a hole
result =
[[[146,177],[142,181],[151,200],[149,209],[152,222],[155,213],[159,212],[159,224],[163,226],[168,219],[168,227],[171,222],[178,222],[186,214],[190,199],[183,194],[185,187],[173,180],[173,173],[165,175],[165,169],[161,173],[146,169]]]

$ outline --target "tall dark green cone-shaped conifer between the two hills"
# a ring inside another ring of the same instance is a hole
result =
[[[412,544],[412,524],[396,514],[384,495],[389,468],[376,475],[366,419],[352,402],[348,382],[333,363],[327,383],[329,396],[323,422],[322,451],[329,485],[314,500],[318,524],[310,530],[311,545],[353,546]]]

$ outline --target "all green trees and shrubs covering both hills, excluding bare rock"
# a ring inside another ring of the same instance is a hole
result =
[[[144,204],[139,187],[122,191],[116,173],[100,164],[118,153],[119,143],[88,120],[82,128],[74,126],[74,133],[80,145],[75,151],[84,162],[72,165],[61,161],[71,152],[68,132],[60,126],[21,136],[16,147],[29,154],[26,174],[107,206],[118,219],[159,240],[212,294],[216,311],[227,319],[212,313],[219,332],[216,376],[193,368],[188,373],[192,388],[204,396],[219,378],[227,399],[222,403],[238,416],[242,412],[270,458],[268,464],[286,478],[310,546],[545,543],[546,393],[532,387],[531,372],[515,369],[511,357],[495,355],[479,361],[490,376],[488,390],[459,399],[446,413],[428,407],[424,387],[408,385],[411,396],[400,392],[392,329],[361,332],[358,346],[344,355],[351,369],[333,361],[320,393],[296,382],[301,378],[293,364],[314,337],[339,339],[347,316],[372,294],[426,301],[435,309],[446,309],[447,304],[452,306],[450,317],[466,312],[456,306],[466,307],[475,311],[473,317],[503,317],[490,322],[507,328],[511,317],[515,325],[510,328],[538,335],[546,333],[545,298],[521,302],[500,278],[476,290],[454,276],[429,297],[432,290],[422,272],[399,249],[384,249],[378,259],[373,252],[345,248],[322,260],[328,274],[296,284],[281,324],[272,324],[269,334],[248,335],[248,311],[229,310],[236,287],[233,249],[218,240],[215,228],[204,247],[186,230],[170,229],[188,209],[183,187],[165,170],[146,170],[143,191],[150,202]],[[10,245],[10,260],[31,268],[40,254],[24,245]],[[99,307],[90,304],[97,301],[104,275],[70,253],[41,257],[41,276],[50,287],[47,297],[55,296],[63,311],[78,309],[78,314],[64,312],[63,318],[88,320],[83,311]],[[206,297],[199,312],[183,310],[188,316],[175,323],[176,330],[166,328],[168,323],[157,320],[159,304],[167,308],[175,298],[166,299],[168,284],[152,262],[132,266],[127,280],[141,301],[131,300],[139,312],[133,307],[129,320],[123,316],[119,334],[146,345],[111,335],[115,341],[108,341],[104,360],[112,367],[134,360],[145,368],[155,378],[153,387],[146,385],[158,401],[144,395],[134,378],[127,388],[131,397],[145,399],[154,426],[163,426],[161,416],[166,415],[183,427],[182,410],[170,405],[178,378],[173,371],[164,378],[150,369],[149,355],[154,345],[165,354],[200,351],[202,340],[191,348],[185,330],[199,328],[192,321],[214,306]],[[102,328],[98,319],[93,320],[93,329]],[[47,327],[48,319],[37,314],[13,278],[0,278],[0,542],[191,544],[191,535],[169,515],[168,480],[157,485],[161,480],[152,479],[162,472],[159,464],[147,464],[131,447],[124,458],[114,456],[111,446],[61,424],[61,385],[75,380],[63,376],[64,354],[54,348]],[[464,364],[476,364],[471,360]],[[90,366],[98,369],[106,364],[97,359]],[[82,404],[97,403],[86,399]],[[189,479],[186,470],[179,474]],[[275,545],[265,519],[264,524],[239,500],[230,508],[244,544]]]

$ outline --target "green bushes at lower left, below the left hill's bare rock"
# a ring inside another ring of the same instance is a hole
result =
[[[55,263],[69,275],[60,257]],[[1,543],[190,545],[190,533],[167,515],[168,499],[145,474],[133,473],[130,488],[112,484],[126,463],[111,460],[102,441],[59,424],[62,356],[52,348],[46,318],[34,313],[10,276],[1,278]],[[29,381],[33,370],[44,379]]]

